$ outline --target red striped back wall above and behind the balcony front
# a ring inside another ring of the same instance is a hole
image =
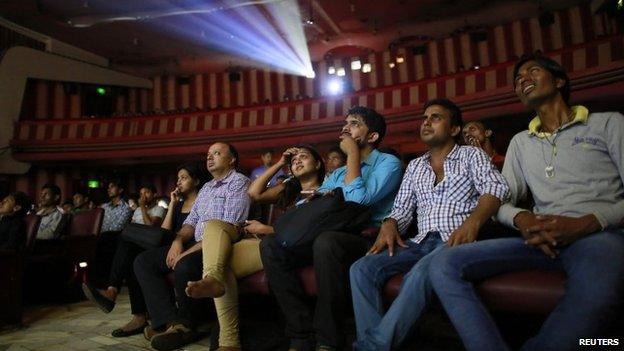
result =
[[[478,43],[465,33],[432,41],[426,45],[424,55],[414,55],[406,48],[395,54],[388,51],[372,53],[361,58],[373,66],[373,71],[368,74],[351,71],[350,59],[343,59],[314,63],[315,79],[262,70],[243,71],[238,82],[230,82],[225,72],[198,73],[185,80],[158,76],[153,78],[152,91],[131,89],[128,94],[120,96],[116,112],[223,109],[283,102],[286,98],[291,101],[297,97],[318,98],[326,93],[324,87],[332,78],[327,74],[330,65],[345,68],[345,79],[353,91],[366,91],[454,74],[474,66],[500,64],[525,53],[550,52],[617,33],[617,25],[603,14],[592,13],[589,4],[555,12],[554,19],[554,23],[546,27],[540,26],[537,18],[498,25],[489,28],[487,40]],[[387,63],[396,55],[403,55],[405,62],[390,69]],[[181,84],[183,82],[188,83]],[[482,82],[477,83],[480,87]],[[472,91],[471,82],[468,84],[466,93]],[[80,99],[64,95],[56,83],[38,82],[32,91],[37,95],[30,99],[37,104],[34,109],[36,118],[82,115]]]

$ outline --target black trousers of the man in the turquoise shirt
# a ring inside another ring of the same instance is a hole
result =
[[[269,286],[286,318],[286,335],[295,345],[315,338],[322,345],[341,348],[344,320],[351,311],[349,267],[362,257],[371,242],[358,235],[325,232],[312,247],[285,248],[274,235],[260,244]],[[307,303],[297,269],[314,264],[317,300]]]

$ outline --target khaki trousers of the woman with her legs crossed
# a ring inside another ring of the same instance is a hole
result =
[[[219,346],[240,347],[238,335],[238,285],[236,280],[262,269],[260,240],[238,240],[236,227],[211,220],[204,225],[202,253],[204,277],[223,284],[225,294],[214,299],[219,321]]]

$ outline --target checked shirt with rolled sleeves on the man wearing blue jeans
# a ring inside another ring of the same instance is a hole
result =
[[[430,158],[426,153],[410,162],[388,216],[404,233],[416,209],[418,235],[412,239],[416,243],[429,232],[439,232],[447,241],[477,207],[481,195],[490,194],[503,202],[509,194],[505,179],[479,148],[455,145],[444,160],[444,179],[435,186]]]

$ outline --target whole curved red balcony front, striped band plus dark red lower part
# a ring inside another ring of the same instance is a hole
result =
[[[547,53],[572,80],[573,101],[601,101],[624,91],[624,37],[614,35]],[[418,118],[428,99],[448,97],[465,120],[513,118],[523,108],[512,91],[513,62],[378,89],[265,106],[209,112],[103,119],[22,120],[11,146],[19,161],[175,159],[201,154],[215,141],[233,142],[243,154],[260,148],[335,141],[353,105],[387,116],[386,146],[418,153]]]

